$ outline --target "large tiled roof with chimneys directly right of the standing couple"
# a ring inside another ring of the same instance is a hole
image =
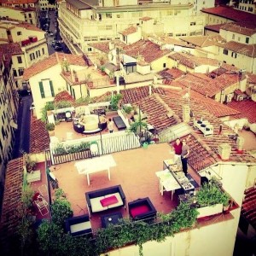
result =
[[[174,113],[180,119],[183,119],[183,104],[188,104],[188,100],[173,90],[166,90],[166,96],[160,95],[166,104],[172,108]],[[213,100],[212,100],[213,101]],[[230,161],[251,162],[256,164],[256,159],[249,153],[237,154],[236,142],[228,135],[234,134],[234,131],[227,125],[210,113],[204,105],[198,104],[194,99],[189,101],[190,109],[195,119],[207,119],[213,125],[213,136],[204,137],[201,131],[193,130],[189,137],[189,147],[193,148],[189,156],[189,166],[196,172],[200,172],[203,168],[211,166],[213,163],[222,161],[218,156],[218,146],[221,143],[229,143],[231,146]],[[193,119],[190,119],[189,125],[193,127]],[[218,134],[219,127],[222,127],[222,133]]]

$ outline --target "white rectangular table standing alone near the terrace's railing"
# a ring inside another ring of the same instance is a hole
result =
[[[108,179],[110,180],[110,167],[116,166],[113,156],[103,155],[101,157],[95,157],[89,160],[82,160],[75,165],[79,174],[85,174],[87,176],[87,183],[90,186],[90,174],[95,172],[108,171]]]

